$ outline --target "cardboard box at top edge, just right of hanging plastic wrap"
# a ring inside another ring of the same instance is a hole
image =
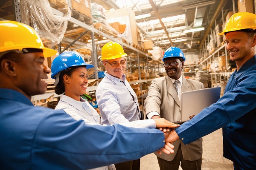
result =
[[[90,0],[71,0],[71,8],[91,18]]]

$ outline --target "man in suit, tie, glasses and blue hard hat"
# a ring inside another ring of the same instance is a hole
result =
[[[167,76],[153,79],[145,99],[148,119],[165,118],[170,122],[180,121],[180,94],[204,88],[203,83],[186,79],[181,71],[185,57],[180,48],[170,47],[163,56]],[[191,99],[193,100],[193,99]],[[191,115],[192,116],[192,115]],[[180,123],[181,124],[181,123]],[[202,139],[184,145],[180,140],[173,142],[175,153],[157,155],[160,170],[201,170]]]

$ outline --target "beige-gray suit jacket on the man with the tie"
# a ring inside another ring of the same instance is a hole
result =
[[[181,92],[202,88],[204,88],[203,83],[183,77]],[[195,99],[191,99],[191,102],[193,102],[193,100]],[[163,117],[170,122],[177,122],[180,120],[180,100],[172,80],[169,79],[169,77],[164,76],[152,80],[148,90],[148,96],[145,99],[145,111],[146,115],[149,112],[156,111],[160,113],[160,117]],[[170,155],[167,155],[162,153],[161,155],[156,155],[167,161],[172,161],[177,153],[179,145],[181,145],[183,159],[195,161],[202,157],[202,138],[188,145],[184,145],[179,139],[173,142],[173,145],[175,146],[173,154],[171,153]]]

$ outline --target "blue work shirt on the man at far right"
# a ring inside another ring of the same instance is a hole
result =
[[[223,127],[224,157],[256,170],[256,56],[230,75],[224,95],[175,131],[184,144]]]

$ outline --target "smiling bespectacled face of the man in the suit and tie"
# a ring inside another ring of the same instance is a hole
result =
[[[165,67],[165,70],[166,70],[166,74],[168,77],[177,80],[181,76],[181,70],[184,67],[184,62],[180,62],[180,59],[172,58],[172,57],[167,58],[164,62],[171,63],[171,62],[175,62],[175,61],[178,62],[176,66],[172,66],[170,64],[169,67]]]

